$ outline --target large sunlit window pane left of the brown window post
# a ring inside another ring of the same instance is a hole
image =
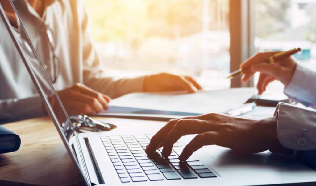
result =
[[[170,72],[228,88],[228,0],[85,0],[111,75]]]

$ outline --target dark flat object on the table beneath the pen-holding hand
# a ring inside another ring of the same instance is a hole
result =
[[[253,95],[246,103],[255,102],[258,106],[276,107],[279,102],[291,103],[292,101],[286,96],[258,96]]]

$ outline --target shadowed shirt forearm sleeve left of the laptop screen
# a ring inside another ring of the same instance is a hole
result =
[[[45,115],[40,96],[0,100],[0,124]]]

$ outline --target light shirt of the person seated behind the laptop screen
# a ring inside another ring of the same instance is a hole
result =
[[[48,55],[46,26],[52,31],[54,52],[60,61],[56,90],[83,83],[112,98],[143,91],[144,77],[115,80],[104,75],[81,0],[55,1],[45,9],[43,17],[27,0],[14,4],[41,59]],[[19,29],[15,29],[16,34],[22,39]],[[42,101],[2,20],[0,30],[0,124],[42,116]]]

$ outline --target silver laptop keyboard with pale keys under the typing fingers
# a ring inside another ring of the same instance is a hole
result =
[[[162,148],[148,156],[144,149],[152,135],[101,137],[122,183],[216,177],[201,161],[178,159],[183,146],[176,142],[168,158]]]

